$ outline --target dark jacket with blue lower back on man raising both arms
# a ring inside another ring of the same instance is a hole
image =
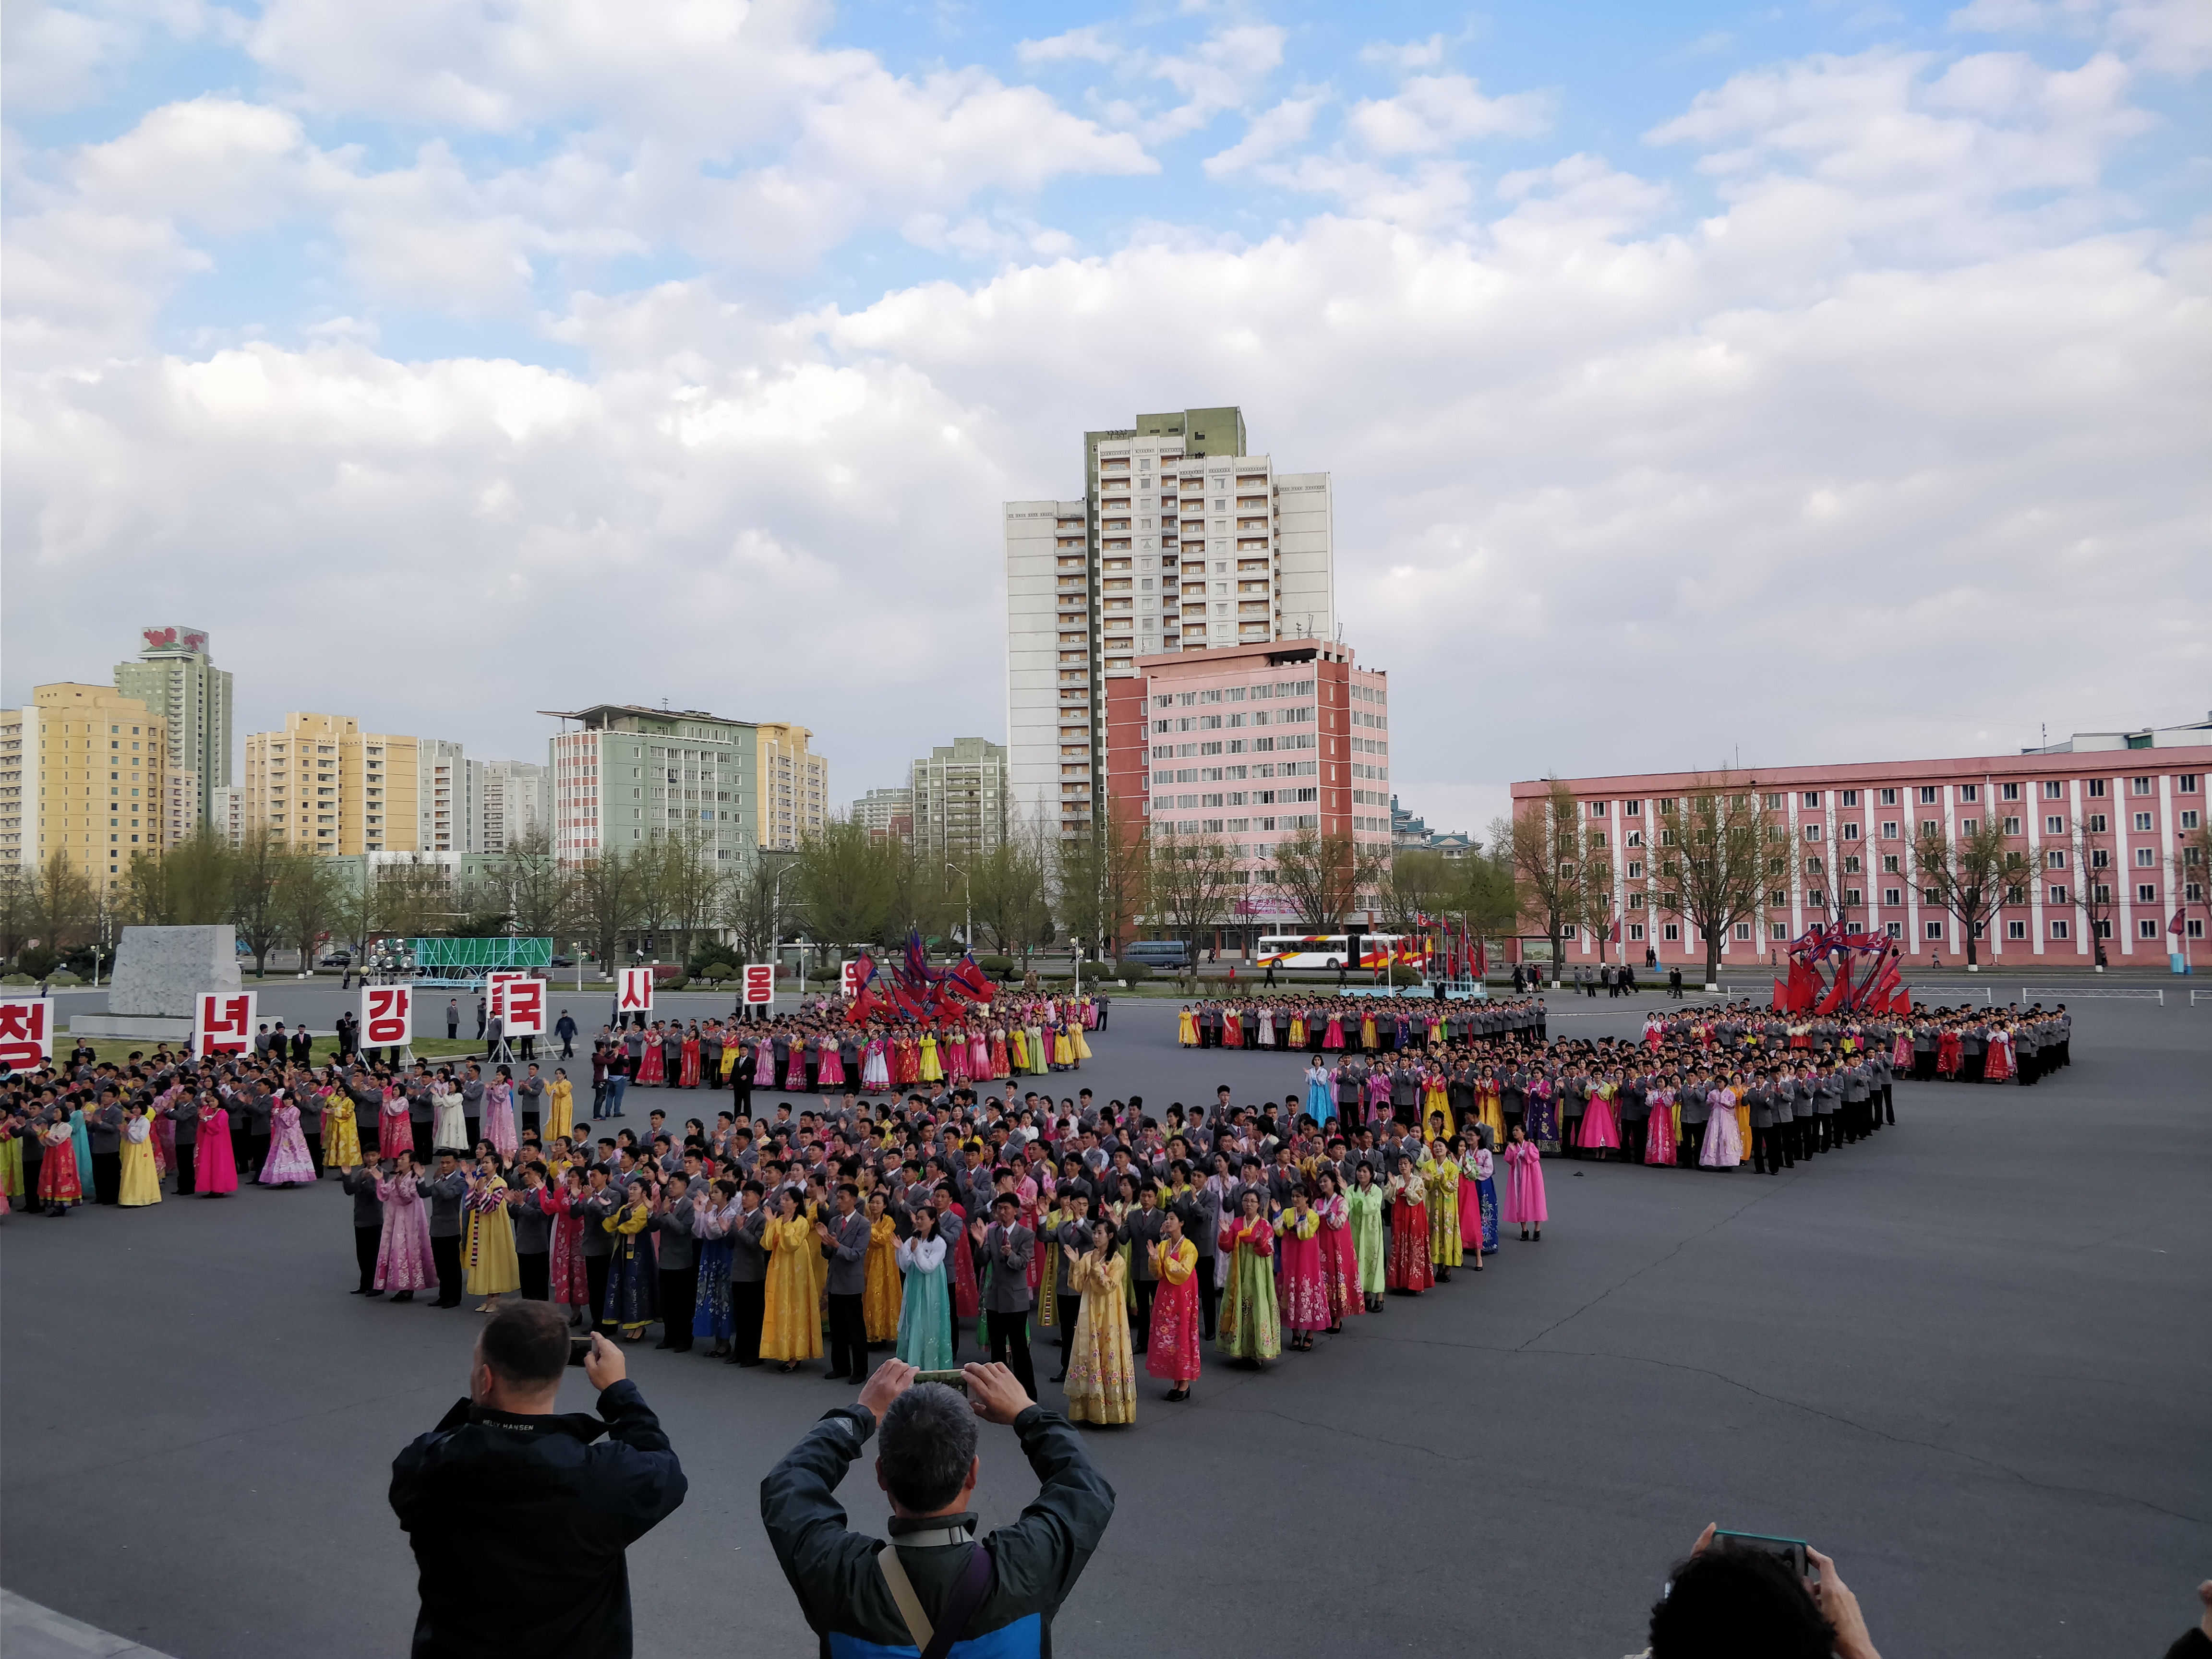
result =
[[[1091,1467],[1082,1438],[1066,1418],[1033,1405],[1013,1420],[1013,1431],[1042,1491],[1013,1526],[1000,1526],[982,1542],[991,1551],[991,1593],[975,1608],[967,1641],[1006,1630],[1002,1644],[993,1644],[993,1655],[1051,1659],[1053,1615],[1068,1599],[1075,1577],[1113,1520],[1113,1486]],[[883,1582],[883,1568],[876,1566],[883,1544],[867,1533],[847,1531],[845,1509],[834,1495],[872,1433],[876,1420],[867,1409],[836,1407],[761,1482],[761,1524],[783,1577],[799,1593],[799,1608],[821,1637],[821,1659],[863,1652],[856,1641],[914,1646]],[[973,1528],[973,1515],[889,1524],[894,1544],[900,1533]],[[898,1544],[900,1566],[931,1619],[945,1608],[973,1548],[973,1542]]]

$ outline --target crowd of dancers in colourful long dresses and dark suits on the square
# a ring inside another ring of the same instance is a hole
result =
[[[947,1369],[971,1340],[1031,1394],[1035,1338],[1057,1347],[1073,1418],[1128,1422],[1139,1369],[1183,1400],[1208,1349],[1265,1365],[1482,1270],[1502,1230],[1537,1243],[1546,1157],[1778,1172],[1893,1124],[1900,1071],[2035,1082],[2070,1064],[2064,1006],[1854,1022],[1725,1004],[1655,1013],[1641,1040],[1553,1040],[1537,1000],[1237,1000],[1186,1009],[1181,1040],[1303,1048],[1303,1086],[1232,1106],[1223,1084],[1155,1119],[1088,1088],[978,1091],[1031,1048],[1029,1020],[1071,1053],[1104,1024],[1099,1004],[1026,1013],[898,1033],[708,1022],[675,1033],[672,1064],[668,1026],[604,1029],[591,1119],[566,1066],[310,1066],[281,1037],[122,1066],[80,1051],[0,1084],[0,1192],[60,1217],[155,1206],[166,1181],[226,1197],[336,1177],[367,1298],[549,1298],[624,1340],[659,1325],[668,1349],[825,1358],[834,1378],[883,1347]],[[847,1042],[858,1075],[825,1077]],[[900,1048],[945,1075],[869,1086]],[[816,1097],[754,1117],[761,1062]],[[661,1102],[635,1126],[633,1075]],[[717,1084],[728,1108],[672,1121],[677,1091]]]

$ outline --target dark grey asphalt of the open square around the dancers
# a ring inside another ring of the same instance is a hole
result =
[[[1553,1031],[1648,1002],[1559,998]],[[1296,1057],[1177,1051],[1172,1018],[1119,1004],[1062,1086],[1296,1086]],[[1139,1376],[1139,1422],[1086,1433],[1119,1509],[1057,1650],[1610,1659],[1717,1520],[1834,1555],[1891,1659],[2161,1652],[2212,1564],[2208,1051],[2212,1009],[2079,1004],[2073,1068],[1902,1084],[1893,1130],[1781,1177],[1551,1161],[1544,1241],[1482,1276],[1181,1407]],[[179,1659],[405,1652],[389,1460],[462,1391],[476,1318],[352,1283],[334,1183],[9,1217],[0,1582]],[[690,1475],[630,1553],[637,1650],[812,1652],[757,1491],[847,1389],[633,1376]],[[1033,1482],[1011,1436],[982,1453],[1000,1524]],[[880,1526],[865,1469],[847,1495]]]

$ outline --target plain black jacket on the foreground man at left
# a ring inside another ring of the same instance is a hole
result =
[[[456,1400],[392,1460],[392,1513],[422,1597],[414,1659],[628,1659],[624,1551],[675,1513],[684,1486],[630,1380],[599,1396],[597,1418]]]

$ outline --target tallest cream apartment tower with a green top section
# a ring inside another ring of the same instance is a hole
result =
[[[1250,456],[1241,409],[1084,434],[1082,500],[1006,502],[1015,814],[1095,827],[1106,684],[1137,659],[1336,633],[1327,473]]]

